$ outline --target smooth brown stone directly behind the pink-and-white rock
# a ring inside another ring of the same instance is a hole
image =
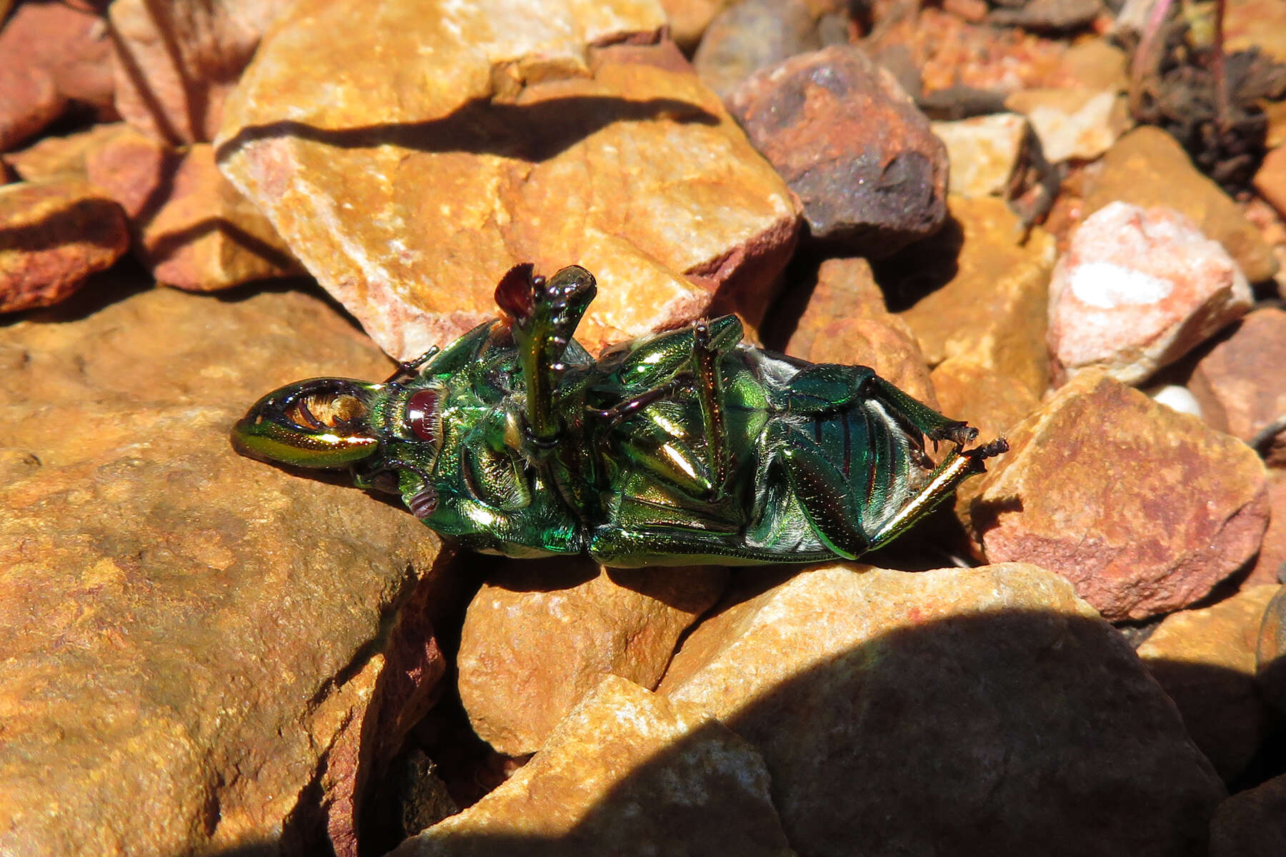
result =
[[[1251,283],[1277,272],[1277,262],[1259,230],[1218,185],[1197,172],[1174,137],[1160,128],[1138,127],[1118,140],[1085,185],[1087,215],[1118,200],[1143,208],[1165,206],[1223,244]]]

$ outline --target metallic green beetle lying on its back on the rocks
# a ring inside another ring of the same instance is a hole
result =
[[[743,344],[736,316],[594,360],[572,339],[593,275],[531,270],[496,288],[505,317],[379,384],[283,387],[237,423],[235,445],[351,468],[473,550],[616,567],[854,559],[1008,448],[963,450],[976,429],[865,366]],[[936,466],[926,437],[953,445]]]

